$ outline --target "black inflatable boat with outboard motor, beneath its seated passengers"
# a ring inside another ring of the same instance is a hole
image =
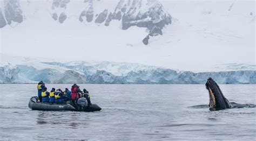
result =
[[[29,100],[29,108],[31,110],[44,110],[44,111],[100,111],[100,108],[97,104],[87,105],[87,100],[84,97],[81,97],[77,100],[77,104],[74,105],[71,102],[65,102],[62,104],[58,103],[45,103],[39,102],[37,96],[33,96]]]

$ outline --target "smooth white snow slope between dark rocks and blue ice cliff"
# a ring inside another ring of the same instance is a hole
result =
[[[179,70],[207,70],[226,63],[255,65],[255,1],[160,1],[172,16],[163,36],[142,43],[145,28],[120,29],[80,23],[84,7],[67,6],[68,19],[51,18],[51,3],[21,1],[26,19],[0,30],[0,52],[60,61],[136,62]],[[116,1],[97,2],[95,12],[113,9]],[[3,6],[1,5],[1,8]],[[251,14],[252,13],[252,14]]]

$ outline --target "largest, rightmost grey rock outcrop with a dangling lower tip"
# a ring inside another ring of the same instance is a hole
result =
[[[138,26],[149,29],[149,36],[163,34],[161,31],[163,27],[171,24],[171,15],[164,12],[163,5],[156,0],[147,1],[146,5],[150,5],[150,8],[146,12],[142,13],[141,11],[137,11],[142,6],[142,1],[132,2],[130,9],[124,13],[122,17],[123,30],[129,29],[131,26]],[[137,15],[135,15],[136,13]],[[149,43],[149,36],[143,39],[143,43],[145,45]]]

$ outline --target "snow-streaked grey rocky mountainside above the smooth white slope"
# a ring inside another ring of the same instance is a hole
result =
[[[44,10],[41,16],[51,16],[52,20],[60,24],[76,17],[76,22],[85,25],[95,23],[109,26],[113,22],[118,22],[122,30],[127,30],[131,26],[146,28],[148,34],[141,39],[145,45],[149,44],[150,37],[162,35],[161,30],[164,26],[171,24],[171,15],[164,10],[158,0],[4,0],[1,7],[0,28],[26,24],[27,20],[38,18],[35,16],[39,10]]]

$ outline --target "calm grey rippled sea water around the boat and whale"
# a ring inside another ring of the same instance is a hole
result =
[[[230,102],[256,104],[256,85],[220,85]],[[48,89],[71,84],[46,84]],[[0,139],[255,140],[256,108],[210,111],[203,84],[80,84],[97,112],[36,111],[36,84],[0,84]]]

